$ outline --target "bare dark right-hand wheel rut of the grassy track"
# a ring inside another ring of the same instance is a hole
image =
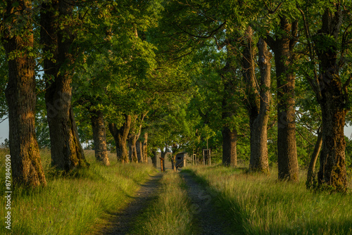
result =
[[[202,235],[229,234],[225,231],[226,220],[218,215],[214,205],[214,195],[201,186],[188,172],[180,172],[188,186],[188,196],[191,198],[191,212],[199,222]]]

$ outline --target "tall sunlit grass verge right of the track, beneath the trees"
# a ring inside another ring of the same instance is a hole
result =
[[[352,194],[306,190],[298,184],[229,167],[191,167],[196,179],[215,190],[225,220],[241,234],[352,234]],[[351,184],[350,184],[351,185]]]

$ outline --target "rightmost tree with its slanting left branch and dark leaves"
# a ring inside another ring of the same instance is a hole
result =
[[[311,7],[309,4],[306,9]],[[322,147],[318,184],[334,191],[347,190],[346,141],[344,125],[348,107],[348,37],[351,35],[351,6],[339,2],[322,3],[320,29],[311,29],[308,11],[301,11],[304,20],[310,62],[313,70],[306,78],[315,92],[322,110]],[[318,20],[318,19],[317,19]],[[318,60],[317,60],[318,57]],[[319,69],[316,70],[318,61]],[[347,69],[346,69],[347,68]],[[345,82],[343,82],[344,78]]]

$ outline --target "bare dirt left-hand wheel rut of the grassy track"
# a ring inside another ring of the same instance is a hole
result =
[[[135,198],[126,206],[124,210],[113,215],[115,218],[110,226],[99,231],[104,235],[122,235],[129,234],[130,229],[141,212],[151,203],[152,199],[157,196],[158,182],[163,177],[162,173],[151,176],[151,179],[141,185],[141,188],[135,194]]]

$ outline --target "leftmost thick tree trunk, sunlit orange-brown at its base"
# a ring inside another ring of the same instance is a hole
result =
[[[13,4],[18,6],[13,8]],[[13,11],[13,12],[12,12]],[[45,186],[46,179],[35,135],[35,61],[28,49],[33,48],[31,1],[7,1],[3,15],[4,44],[8,61],[8,124],[13,184],[37,187]],[[26,20],[25,24],[19,19]],[[23,25],[21,25],[23,24]],[[20,53],[20,51],[22,51]],[[17,55],[13,58],[13,55]],[[6,162],[8,164],[10,162]],[[5,163],[4,163],[5,164]]]

